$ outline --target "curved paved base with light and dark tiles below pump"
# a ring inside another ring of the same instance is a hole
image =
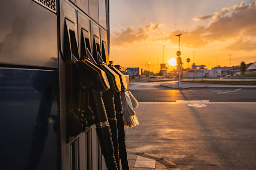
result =
[[[163,170],[163,169],[173,169],[180,170],[181,168],[162,158],[152,154],[137,152],[137,151],[127,151],[128,155],[128,164],[131,170],[146,170],[146,169],[155,169],[155,170]],[[120,168],[122,169],[122,168]]]

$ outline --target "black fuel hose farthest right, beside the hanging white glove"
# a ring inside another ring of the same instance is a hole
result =
[[[117,118],[119,156],[122,162],[122,169],[129,170],[126,143],[125,143],[124,114],[123,114],[123,107],[122,107],[122,100],[121,100],[121,92],[115,93],[114,101],[115,101],[116,118]]]

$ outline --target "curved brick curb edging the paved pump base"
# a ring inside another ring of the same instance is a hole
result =
[[[148,153],[145,153],[145,152],[138,152],[138,151],[128,150],[127,153],[136,154],[136,155],[140,155],[140,156],[143,156],[143,157],[153,159],[153,160],[158,161],[159,163],[165,165],[168,168],[179,167],[177,164],[175,164],[173,162],[170,162],[169,160],[166,160],[162,157],[155,156],[155,155],[152,155],[152,154],[148,154]]]

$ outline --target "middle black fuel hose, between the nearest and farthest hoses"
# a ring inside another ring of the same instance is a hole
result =
[[[119,148],[118,148],[118,131],[117,131],[117,119],[116,119],[116,110],[114,104],[114,92],[113,90],[107,90],[103,92],[103,101],[105,104],[109,125],[111,129],[111,137],[114,146],[114,154],[117,163],[118,169],[120,169],[120,161],[119,161]]]

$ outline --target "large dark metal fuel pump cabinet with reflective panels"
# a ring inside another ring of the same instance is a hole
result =
[[[109,0],[0,7],[1,169],[107,169],[90,82],[74,61],[88,50],[110,64]]]

